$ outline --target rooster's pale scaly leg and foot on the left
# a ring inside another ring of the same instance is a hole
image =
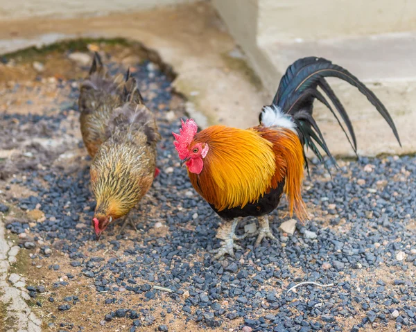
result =
[[[234,254],[234,249],[239,250],[243,249],[240,245],[234,243],[234,240],[242,240],[248,233],[243,234],[242,236],[236,236],[236,227],[239,223],[239,219],[234,219],[232,222],[225,221],[223,225],[218,228],[216,238],[220,238],[223,240],[221,242],[220,249],[214,250],[213,252],[216,253],[214,259],[218,260],[221,257],[225,256],[225,254],[229,254],[232,258],[236,258]]]

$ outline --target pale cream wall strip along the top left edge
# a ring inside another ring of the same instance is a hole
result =
[[[80,17],[129,12],[196,0],[0,0],[0,19]]]

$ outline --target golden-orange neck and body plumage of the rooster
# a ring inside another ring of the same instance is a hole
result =
[[[188,171],[193,187],[218,211],[255,204],[286,181],[284,192],[297,216],[306,218],[301,197],[304,176],[302,144],[295,132],[261,125],[241,130],[213,125],[198,132],[196,143],[209,152],[198,175]]]

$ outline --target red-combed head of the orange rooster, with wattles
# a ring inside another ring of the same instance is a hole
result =
[[[204,166],[204,159],[207,156],[209,147],[207,143],[201,143],[194,140],[198,125],[193,119],[187,119],[184,122],[182,119],[182,129],[179,134],[172,132],[175,137],[175,148],[180,157],[180,163],[187,165],[189,172],[199,174],[202,172]]]

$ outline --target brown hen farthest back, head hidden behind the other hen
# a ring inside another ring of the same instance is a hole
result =
[[[91,157],[96,155],[98,148],[107,139],[107,125],[114,108],[123,105],[125,89],[132,85],[130,72],[126,78],[118,75],[110,77],[103,66],[100,55],[94,54],[89,75],[80,87],[78,109],[80,110],[80,127],[83,141]],[[139,102],[143,98],[137,91]]]

